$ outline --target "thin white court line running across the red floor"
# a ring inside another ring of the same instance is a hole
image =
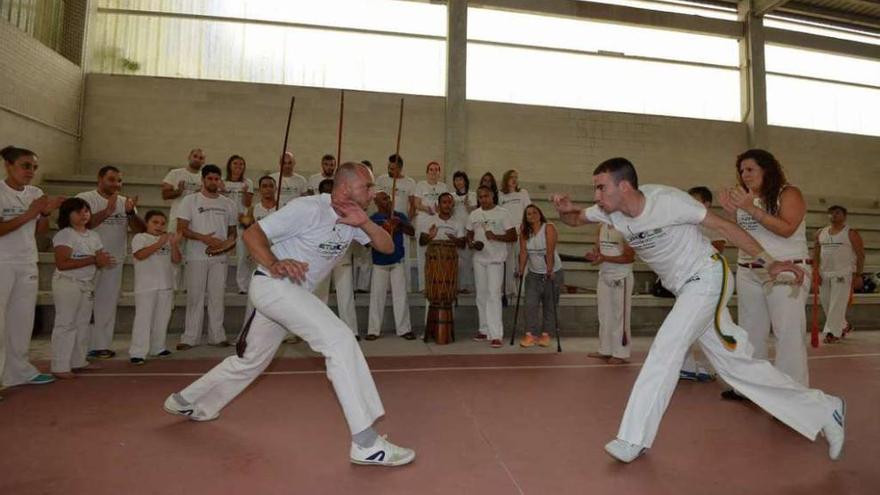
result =
[[[840,359],[840,358],[866,358],[880,357],[880,353],[870,354],[838,354],[835,356],[811,356],[807,359]],[[434,368],[394,368],[394,369],[371,369],[372,373],[421,373],[421,372],[438,372],[438,371],[515,371],[515,370],[580,370],[591,368],[633,368],[644,364],[627,363],[627,364],[550,364],[550,365],[523,365],[523,366],[438,366]],[[202,376],[206,372],[190,372],[190,373],[94,373],[79,374],[77,376],[83,378],[93,377],[169,377],[169,376]],[[303,370],[303,371],[267,371],[263,375],[287,376],[287,375],[324,375],[325,370]]]

